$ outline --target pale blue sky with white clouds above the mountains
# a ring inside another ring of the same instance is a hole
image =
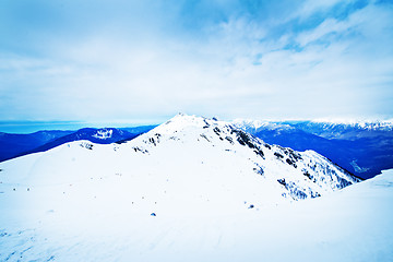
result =
[[[2,0],[0,121],[392,119],[393,1]]]

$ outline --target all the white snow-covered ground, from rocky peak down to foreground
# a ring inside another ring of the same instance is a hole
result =
[[[356,183],[225,122],[177,116],[124,144],[72,142],[0,169],[0,261],[393,258],[393,171]]]

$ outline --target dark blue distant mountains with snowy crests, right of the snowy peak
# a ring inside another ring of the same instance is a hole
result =
[[[236,120],[237,127],[266,143],[313,150],[364,179],[393,168],[392,122]]]

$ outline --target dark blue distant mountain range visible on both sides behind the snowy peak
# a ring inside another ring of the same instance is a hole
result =
[[[349,172],[367,179],[393,168],[393,123],[327,121],[235,120],[233,123],[266,143],[296,151],[313,150]],[[43,152],[58,145],[88,140],[97,144],[122,143],[156,126],[85,128],[78,131],[0,133],[0,162]]]

